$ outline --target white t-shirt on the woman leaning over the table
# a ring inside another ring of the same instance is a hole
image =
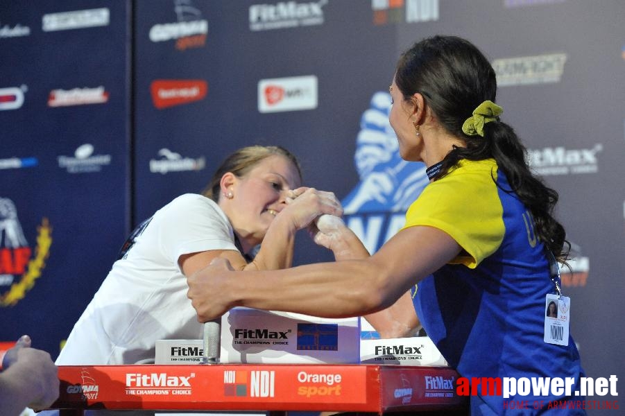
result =
[[[133,364],[154,358],[156,340],[203,338],[178,259],[207,250],[237,250],[214,201],[187,193],[156,211],[124,245],[56,364]]]

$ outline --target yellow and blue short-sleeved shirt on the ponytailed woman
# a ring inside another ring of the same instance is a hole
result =
[[[572,338],[568,347],[543,340],[545,296],[555,293],[549,260],[531,214],[495,160],[463,160],[428,184],[406,212],[404,228],[417,225],[441,229],[463,248],[418,284],[414,298],[427,335],[450,365],[468,378],[571,376],[579,387],[583,370]],[[506,400],[534,399],[567,398]],[[503,401],[472,397],[472,415],[502,415]],[[585,414],[579,412],[563,414]]]

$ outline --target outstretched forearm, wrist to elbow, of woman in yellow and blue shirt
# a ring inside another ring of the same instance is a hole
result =
[[[195,277],[208,284],[208,288],[202,288],[201,284],[189,286],[197,293],[209,290],[221,293],[223,304],[218,306],[222,309],[219,314],[233,306],[247,306],[343,318],[384,309],[405,291],[392,284],[384,284],[387,280],[384,270],[362,260],[317,263],[267,272],[222,273],[216,272],[213,267]],[[328,268],[332,272],[329,273]],[[194,306],[201,318],[203,308],[195,303]]]

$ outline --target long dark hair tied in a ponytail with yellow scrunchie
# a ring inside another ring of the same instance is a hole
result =
[[[484,137],[462,131],[465,120],[483,101],[495,102],[495,71],[479,49],[454,36],[422,40],[400,57],[395,83],[406,101],[416,92],[422,94],[439,123],[465,141],[466,147],[454,146],[445,156],[434,179],[445,176],[461,159],[495,159],[511,187],[503,190],[516,193],[531,212],[540,241],[564,263],[570,243],[564,227],[554,218],[558,193],[533,175],[526,148],[513,128],[497,117],[484,125]]]

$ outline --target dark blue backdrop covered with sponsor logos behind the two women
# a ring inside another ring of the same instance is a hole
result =
[[[377,250],[425,185],[386,119],[395,60],[445,33],[493,62],[505,121],[560,193],[588,375],[623,376],[624,15],[615,0],[2,2],[0,341],[58,354],[130,229],[249,144],[296,153]],[[304,233],[297,249],[330,259]]]

